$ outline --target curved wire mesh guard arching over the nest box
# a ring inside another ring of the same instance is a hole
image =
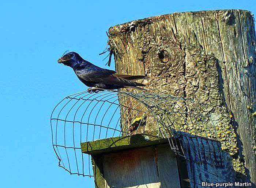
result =
[[[91,157],[81,152],[80,143],[135,134],[143,126],[142,120],[150,117],[154,121],[147,124],[157,124],[158,135],[168,138],[171,149],[187,158],[175,139],[177,131],[217,139],[210,115],[201,113],[198,105],[202,106],[192,99],[157,93],[102,90],[69,95],[54,107],[50,117],[52,145],[59,167],[70,174],[92,177]],[[137,118],[140,121],[136,122]],[[136,129],[131,133],[133,124]],[[207,125],[208,130],[197,130],[200,124]]]

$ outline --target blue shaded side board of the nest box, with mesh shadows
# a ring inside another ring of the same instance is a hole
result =
[[[202,182],[236,181],[230,155],[221,150],[220,142],[184,132],[177,136],[188,157],[190,188],[201,187]]]

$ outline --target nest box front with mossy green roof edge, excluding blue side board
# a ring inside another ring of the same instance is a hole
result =
[[[167,139],[136,134],[85,142],[81,148],[93,158],[95,187],[180,187],[176,156]]]

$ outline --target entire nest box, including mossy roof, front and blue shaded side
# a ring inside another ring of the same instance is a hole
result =
[[[186,157],[175,154],[167,139],[146,134],[85,142],[81,148],[93,156],[98,188],[194,188],[202,182],[236,181],[231,157],[219,141],[185,132],[175,135]]]

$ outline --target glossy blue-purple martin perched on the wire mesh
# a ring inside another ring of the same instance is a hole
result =
[[[86,86],[92,87],[88,91],[97,92],[98,89],[121,89],[132,87],[143,90],[138,86],[145,86],[142,83],[134,82],[143,79],[142,75],[122,75],[116,74],[116,71],[98,67],[87,60],[84,60],[78,53],[69,52],[58,59],[58,63],[73,68],[76,76]]]

